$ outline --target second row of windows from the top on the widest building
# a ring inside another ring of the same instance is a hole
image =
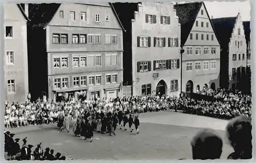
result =
[[[58,34],[54,33],[53,43],[56,44],[68,44],[68,34]],[[101,34],[72,34],[72,43],[73,44],[100,44],[101,43]],[[116,44],[117,35],[105,34],[105,43],[106,44]]]

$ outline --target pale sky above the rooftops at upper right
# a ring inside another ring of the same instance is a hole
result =
[[[250,2],[204,2],[209,16],[218,17],[234,17],[240,12],[243,21],[250,20]]]

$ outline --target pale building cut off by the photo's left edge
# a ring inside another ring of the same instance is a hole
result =
[[[28,95],[28,6],[4,5],[5,100],[25,102]]]

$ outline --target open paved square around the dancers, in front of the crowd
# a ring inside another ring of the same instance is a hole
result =
[[[37,125],[9,129],[16,137],[28,136],[29,144],[42,142],[67,158],[76,159],[191,159],[191,137],[200,128],[215,129],[225,139],[227,121],[199,117],[173,111],[142,113],[140,115],[140,133],[117,129],[116,136],[94,134],[89,143],[57,129],[55,125]],[[22,144],[20,144],[22,145]],[[224,141],[223,159],[232,152]]]

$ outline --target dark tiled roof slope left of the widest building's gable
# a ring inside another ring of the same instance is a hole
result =
[[[29,4],[32,28],[44,28],[53,18],[61,4]]]

